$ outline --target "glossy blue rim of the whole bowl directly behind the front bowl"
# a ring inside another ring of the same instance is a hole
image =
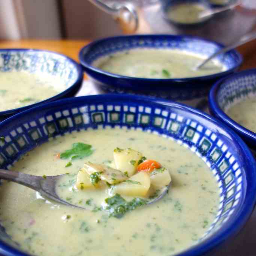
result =
[[[117,79],[129,79],[132,81],[151,81],[151,82],[163,82],[163,81],[167,81],[167,82],[191,82],[191,81],[198,81],[198,80],[208,80],[208,79],[214,79],[214,78],[218,78],[219,76],[225,76],[228,75],[231,72],[234,72],[236,69],[238,69],[238,67],[241,66],[242,62],[243,62],[243,57],[242,55],[236,50],[236,49],[231,49],[228,52],[232,52],[234,53],[237,57],[238,57],[238,61],[235,64],[235,66],[232,69],[228,69],[226,71],[223,72],[219,72],[216,74],[211,74],[211,75],[206,75],[206,76],[194,76],[194,77],[189,77],[189,78],[137,78],[137,77],[132,77],[132,76],[123,76],[123,75],[118,75],[116,73],[110,73],[107,71],[104,71],[102,69],[99,69],[97,67],[92,66],[91,64],[88,64],[87,61],[84,60],[83,58],[83,52],[87,49],[88,51],[90,51],[90,48],[94,45],[100,44],[102,42],[108,41],[108,40],[118,40],[121,38],[148,38],[148,37],[155,37],[155,38],[161,38],[161,37],[166,37],[166,38],[187,38],[187,39],[198,39],[201,40],[202,42],[207,42],[207,43],[212,43],[213,45],[216,45],[220,48],[224,48],[225,46],[221,43],[218,43],[216,41],[213,40],[208,40],[208,39],[204,39],[202,37],[198,37],[198,36],[189,36],[189,35],[184,35],[184,34],[179,34],[179,35],[173,35],[173,34],[138,34],[138,35],[122,35],[122,36],[112,36],[112,37],[104,37],[102,39],[98,39],[98,40],[94,40],[91,43],[88,43],[88,45],[85,45],[84,47],[82,47],[79,51],[78,57],[79,57],[79,61],[81,63],[81,65],[89,70],[92,70],[96,73],[111,77],[111,78],[117,78]],[[228,53],[227,52],[227,53]],[[180,84],[179,84],[180,86]],[[192,85],[193,86],[193,85]]]

